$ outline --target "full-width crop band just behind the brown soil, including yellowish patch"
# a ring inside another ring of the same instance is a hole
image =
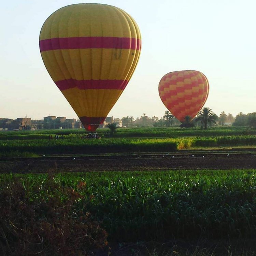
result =
[[[191,147],[255,145],[256,136],[186,137],[162,139],[105,138],[96,139],[44,139],[2,140],[0,156],[26,156],[24,154],[97,154],[124,152],[172,152]],[[23,155],[20,155],[23,153]],[[12,155],[13,154],[13,155]]]

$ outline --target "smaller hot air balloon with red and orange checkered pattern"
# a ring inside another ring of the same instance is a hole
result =
[[[167,109],[183,122],[185,116],[193,119],[201,110],[209,94],[209,83],[199,71],[174,71],[162,77],[158,91]]]

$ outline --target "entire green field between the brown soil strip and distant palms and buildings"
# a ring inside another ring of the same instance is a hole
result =
[[[243,128],[212,128],[207,131],[178,128],[119,129],[113,138],[100,130],[100,140],[84,139],[84,130],[42,130],[0,133],[0,157],[70,155],[132,152],[174,152],[204,147],[256,145],[255,130],[242,135]],[[59,134],[59,139],[49,136]],[[142,138],[143,134],[143,138]]]

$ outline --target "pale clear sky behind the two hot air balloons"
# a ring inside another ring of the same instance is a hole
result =
[[[108,116],[162,117],[158,95],[166,73],[198,70],[210,84],[204,106],[219,115],[256,112],[256,1],[102,0],[129,13],[142,36],[133,76]],[[39,33],[57,9],[77,1],[1,3],[0,118],[77,115],[46,71]],[[86,3],[86,2],[84,2]]]

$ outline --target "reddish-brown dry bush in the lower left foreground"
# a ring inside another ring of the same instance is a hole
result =
[[[22,179],[9,179],[0,190],[0,255],[91,255],[106,246],[107,233],[84,208],[78,191],[56,183],[54,177],[31,191]]]

